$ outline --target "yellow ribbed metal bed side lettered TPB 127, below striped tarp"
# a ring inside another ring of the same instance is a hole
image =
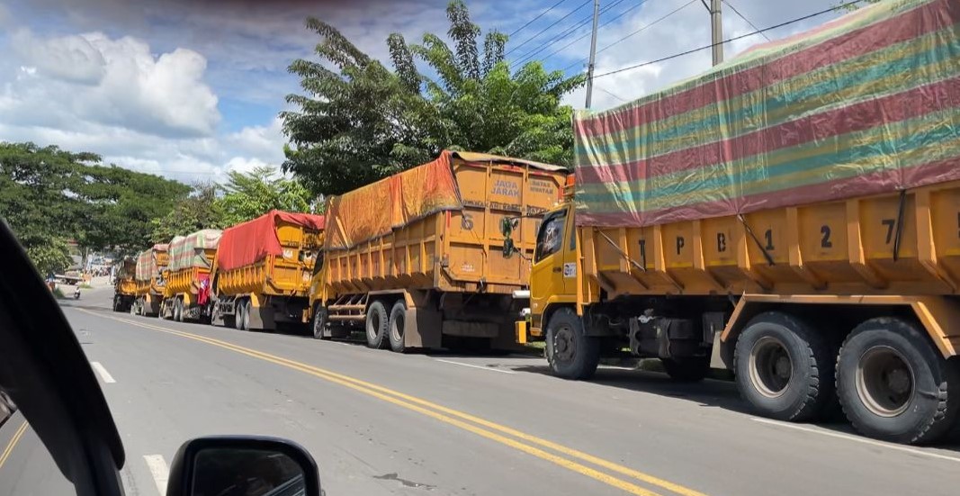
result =
[[[583,290],[960,294],[960,182],[644,228],[578,228]]]

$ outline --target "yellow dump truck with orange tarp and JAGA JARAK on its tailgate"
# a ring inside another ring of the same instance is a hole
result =
[[[534,161],[444,152],[436,161],[332,198],[313,280],[313,334],[363,330],[373,348],[512,347],[528,301],[540,214],[565,170]],[[504,259],[498,226],[522,215]]]

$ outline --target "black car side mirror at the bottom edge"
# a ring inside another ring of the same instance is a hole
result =
[[[167,496],[320,496],[320,472],[300,445],[278,437],[191,439],[170,467]]]

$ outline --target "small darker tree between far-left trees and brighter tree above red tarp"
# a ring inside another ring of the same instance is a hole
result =
[[[150,244],[169,243],[174,236],[184,236],[201,229],[223,229],[224,212],[217,202],[219,186],[197,183],[193,191],[174,205],[173,209],[150,222]]]

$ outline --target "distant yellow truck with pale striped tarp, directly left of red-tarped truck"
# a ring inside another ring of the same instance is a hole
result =
[[[175,237],[170,242],[161,317],[178,322],[209,320],[213,309],[210,272],[221,233],[217,229],[204,229]]]

